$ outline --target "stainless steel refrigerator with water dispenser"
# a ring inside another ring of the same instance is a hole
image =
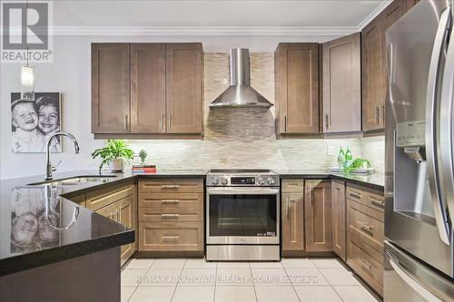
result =
[[[386,33],[385,302],[454,301],[452,2]]]

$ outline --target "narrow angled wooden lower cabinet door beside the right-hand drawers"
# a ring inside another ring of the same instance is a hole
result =
[[[332,250],[344,261],[347,260],[346,247],[346,200],[345,182],[331,182],[331,213],[332,213]]]

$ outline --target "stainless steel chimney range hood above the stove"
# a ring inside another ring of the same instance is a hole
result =
[[[249,50],[234,48],[230,51],[230,84],[210,105],[210,109],[225,107],[270,108],[262,94],[251,87]]]

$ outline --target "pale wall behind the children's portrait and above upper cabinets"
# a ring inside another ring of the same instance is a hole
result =
[[[77,137],[81,153],[74,154],[69,141],[64,152],[53,154],[54,163],[63,161],[59,171],[95,169],[90,153],[103,144],[91,134],[90,43],[92,42],[202,42],[205,52],[227,52],[232,47],[247,47],[251,52],[273,52],[278,42],[317,42],[327,36],[58,36],[54,37],[54,63],[35,65],[35,91],[63,93],[63,130]],[[0,179],[44,174],[44,153],[11,151],[10,93],[20,90],[20,65],[2,63],[0,69]],[[164,142],[165,143],[165,142]],[[178,141],[169,142],[169,147]],[[184,143],[184,141],[180,141]],[[192,142],[194,143],[194,142]],[[324,142],[325,144],[326,142]],[[140,144],[140,142],[139,142]],[[337,143],[339,144],[339,142]],[[134,143],[138,148],[137,142]],[[153,145],[153,141],[147,141]],[[360,153],[360,151],[358,151]],[[183,168],[187,168],[183,167]]]

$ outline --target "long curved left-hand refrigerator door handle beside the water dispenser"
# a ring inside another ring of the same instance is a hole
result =
[[[428,164],[429,189],[432,206],[439,229],[439,238],[446,244],[449,242],[449,223],[446,213],[446,206],[442,200],[441,189],[439,187],[439,167],[437,164],[437,112],[438,112],[438,83],[439,83],[439,63],[444,50],[444,45],[449,34],[451,23],[450,7],[446,8],[440,16],[439,28],[435,36],[432,55],[430,58],[427,99],[426,99],[426,157]]]

